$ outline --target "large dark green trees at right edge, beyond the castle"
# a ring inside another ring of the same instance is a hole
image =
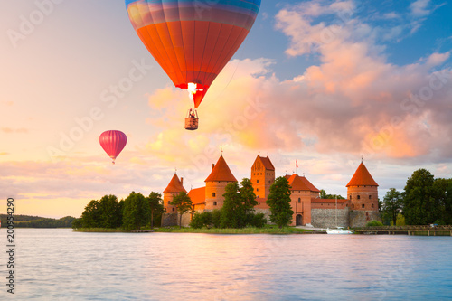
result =
[[[403,191],[391,188],[380,205],[383,223],[452,224],[452,179],[435,178],[427,169],[411,174]]]

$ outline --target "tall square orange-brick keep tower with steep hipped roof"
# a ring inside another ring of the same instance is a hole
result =
[[[256,197],[267,199],[270,193],[270,186],[275,182],[275,166],[268,157],[258,155],[251,166],[251,183],[253,183]]]

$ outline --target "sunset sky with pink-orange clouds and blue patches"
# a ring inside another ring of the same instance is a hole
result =
[[[0,4],[0,212],[79,217],[105,194],[163,192],[177,168],[203,185],[221,154],[236,178],[257,155],[327,193],[364,157],[403,189],[428,168],[452,177],[452,4],[262,0],[247,40],[184,130],[191,102],[137,37],[121,0]],[[37,13],[38,12],[38,13]],[[133,85],[118,86],[133,78]],[[126,133],[111,165],[99,146]],[[76,139],[71,138],[76,137]]]

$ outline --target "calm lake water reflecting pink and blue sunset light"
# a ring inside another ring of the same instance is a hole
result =
[[[15,234],[1,300],[452,300],[451,237]]]

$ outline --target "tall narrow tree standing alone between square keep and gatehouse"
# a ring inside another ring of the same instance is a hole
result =
[[[290,185],[285,177],[279,176],[270,186],[267,204],[270,208],[270,221],[279,228],[292,222],[292,206],[290,205]]]

